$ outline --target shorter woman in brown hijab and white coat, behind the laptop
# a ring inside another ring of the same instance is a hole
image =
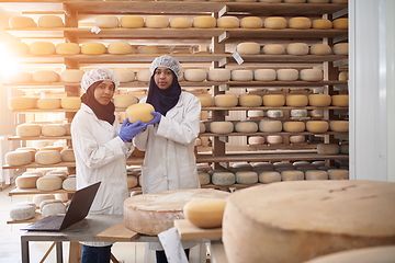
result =
[[[126,159],[134,150],[132,139],[147,124],[121,126],[112,103],[120,84],[114,71],[93,69],[83,75],[81,108],[71,123],[72,149],[76,156],[77,188],[101,181],[90,214],[122,214],[129,196],[126,182]],[[110,262],[111,242],[84,242],[82,263]]]

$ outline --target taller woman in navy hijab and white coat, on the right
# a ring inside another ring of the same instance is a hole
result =
[[[143,193],[199,188],[194,142],[200,132],[200,100],[181,91],[178,78],[182,71],[177,59],[157,57],[150,70],[148,96],[140,102],[155,107],[154,125],[134,138],[135,146],[145,151]],[[157,262],[167,262],[159,259],[165,256],[160,245],[150,243],[149,249],[157,250]]]

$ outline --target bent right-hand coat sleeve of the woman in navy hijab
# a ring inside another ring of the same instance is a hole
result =
[[[190,98],[189,101],[184,102],[185,110],[182,122],[178,123],[172,118],[162,116],[156,133],[157,136],[181,145],[194,144],[200,133],[199,124],[202,106],[196,96]]]

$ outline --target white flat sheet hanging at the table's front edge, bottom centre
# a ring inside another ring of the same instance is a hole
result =
[[[170,228],[169,230],[160,232],[158,237],[169,263],[188,263],[185,251],[182,248],[176,228]]]

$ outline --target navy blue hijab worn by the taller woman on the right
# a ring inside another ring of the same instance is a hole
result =
[[[163,116],[166,116],[166,113],[170,108],[176,106],[181,94],[181,85],[178,82],[178,78],[172,70],[171,73],[173,75],[173,81],[166,90],[159,89],[155,83],[155,71],[149,81],[147,103],[151,104],[155,107],[155,111],[161,113]]]

